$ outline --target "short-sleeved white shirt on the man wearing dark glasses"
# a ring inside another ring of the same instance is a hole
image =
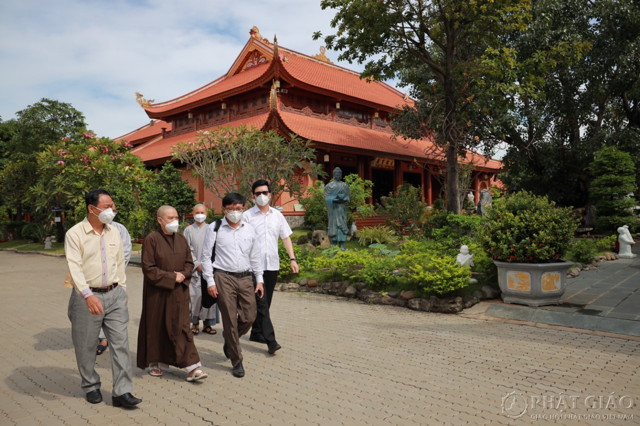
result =
[[[280,256],[278,256],[278,237],[285,239],[293,232],[284,215],[269,206],[266,214],[260,211],[257,205],[246,210],[242,216],[244,222],[250,223],[255,229],[260,247],[262,248],[262,267],[265,271],[278,271],[280,269]]]

